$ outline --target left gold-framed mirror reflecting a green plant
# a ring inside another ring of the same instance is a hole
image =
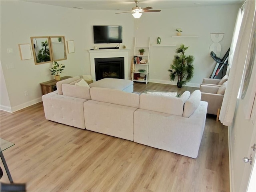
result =
[[[31,37],[35,64],[52,62],[52,50],[49,44],[50,37]]]

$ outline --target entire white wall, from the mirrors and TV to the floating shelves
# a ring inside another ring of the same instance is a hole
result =
[[[74,40],[75,53],[67,54],[62,76],[90,74],[88,49],[94,46],[113,47],[117,44],[94,44],[93,25],[122,25],[123,43],[130,48],[130,59],[133,55],[134,36],[139,40],[156,41],[161,36],[162,44],[184,43],[190,46],[187,54],[196,57],[195,75],[191,82],[198,85],[202,78],[208,77],[214,68],[208,49],[212,41],[210,33],[224,32],[222,56],[230,46],[236,13],[239,6],[213,6],[198,8],[176,8],[162,10],[159,13],[144,13],[138,20],[130,14],[114,14],[116,11],[76,10],[58,6],[24,2],[0,1],[1,5],[1,65],[4,74],[10,111],[16,111],[42,100],[40,82],[54,79],[50,75],[51,63],[34,64],[34,59],[20,60],[18,44],[30,42],[31,36],[65,36],[65,40]],[[182,13],[182,14],[180,14]],[[139,28],[137,29],[137,26]],[[198,35],[199,38],[175,39],[175,28],[182,28],[183,35]],[[155,42],[156,43],[156,42]],[[7,53],[12,48],[13,53]],[[171,83],[168,80],[168,69],[174,55],[174,47],[152,48],[151,80]],[[13,66],[7,69],[7,66]],[[128,67],[130,70],[130,66]],[[155,72],[155,75],[153,75]],[[1,77],[2,78],[2,77]],[[1,80],[2,84],[2,80]],[[28,91],[28,96],[24,92]],[[8,106],[8,102],[5,104]],[[5,105],[1,101],[1,105]]]

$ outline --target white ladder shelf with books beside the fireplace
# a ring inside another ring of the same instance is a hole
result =
[[[138,49],[144,48],[146,50],[146,55],[140,55],[138,53]],[[146,64],[136,63],[135,61],[132,64],[132,81],[134,82],[149,82],[149,64],[150,64],[150,38],[148,39],[148,46],[138,46],[136,44],[136,38],[134,38],[134,58],[141,57],[142,59],[146,59]],[[144,69],[145,72],[139,72],[139,69]],[[138,76],[138,79],[137,79]]]

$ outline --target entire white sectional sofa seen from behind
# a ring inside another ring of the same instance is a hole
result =
[[[77,76],[58,82],[57,91],[42,96],[46,119],[192,158],[198,156],[207,112],[207,102],[200,101],[199,90],[180,98],[138,95],[130,93],[131,87],[124,92],[75,86],[80,80]]]

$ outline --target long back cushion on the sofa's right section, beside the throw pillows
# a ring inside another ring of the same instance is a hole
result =
[[[142,93],[140,109],[182,116],[183,100],[178,97],[163,97]]]

